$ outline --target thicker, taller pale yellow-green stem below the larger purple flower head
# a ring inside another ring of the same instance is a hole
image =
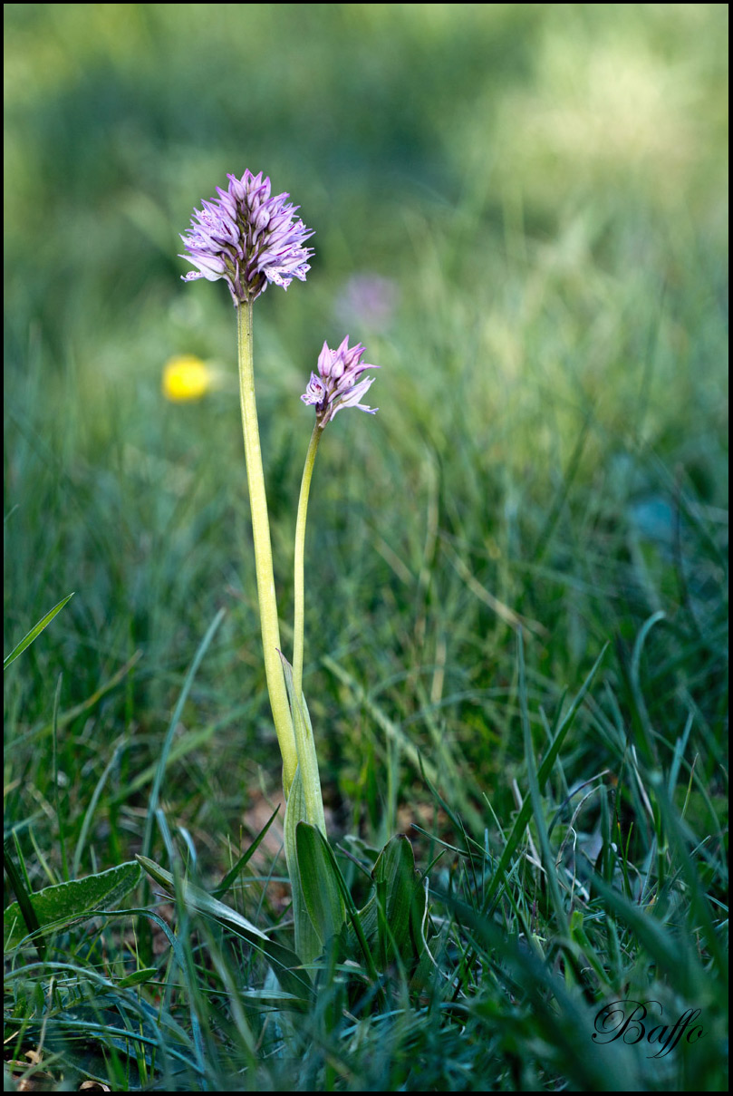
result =
[[[273,574],[273,551],[270,540],[270,520],[265,478],[262,470],[260,427],[254,397],[254,364],[252,353],[252,301],[243,301],[237,309],[239,350],[239,396],[242,410],[242,432],[244,434],[244,456],[247,459],[247,481],[250,490],[252,511],[252,535],[254,538],[254,567],[257,575],[257,598],[260,602],[260,624],[265,658],[267,692],[275,721],[275,731],[283,755],[283,787],[287,798],[296,768],[298,751],[293,731],[290,709],[285,688],[285,678],[279,660],[280,636],[275,601],[275,576]],[[299,695],[299,694],[296,694]]]

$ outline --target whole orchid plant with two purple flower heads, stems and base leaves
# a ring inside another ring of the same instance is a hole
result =
[[[316,742],[302,695],[306,517],[316,454],[323,431],[340,411],[356,408],[375,414],[377,408],[363,400],[375,379],[365,374],[377,366],[364,361],[366,351],[360,343],[350,346],[348,335],[336,349],[324,342],[317,372],[311,372],[300,397],[314,408],[316,422],[306,455],[296,522],[294,648],[289,663],[282,652],[275,598],[255,400],[252,318],[254,301],[268,285],[287,289],[294,278],[306,281],[313,255],[307,241],[313,233],[297,216],[298,206],[288,202],[289,195],[273,195],[270,179],[262,173],[245,171],[241,179],[236,175],[228,179],[227,190],[217,187],[218,197],[203,202],[202,208],[194,212],[188,233],[181,237],[185,246],[181,258],[194,266],[184,275],[185,282],[224,279],[237,312],[239,391],[263,655],[283,760],[285,854],[295,921],[293,966],[314,962],[330,941],[339,939],[342,950],[351,947],[360,952],[370,978],[377,977],[380,966],[375,955],[381,956],[382,968],[388,955],[399,954],[408,967],[416,970],[424,952],[425,899],[410,843],[402,836],[387,844],[374,865],[375,894],[357,911],[327,842]],[[167,872],[147,858],[140,859],[153,878],[170,886]],[[195,889],[190,888],[187,894],[194,904],[213,912],[210,900],[196,895]],[[216,906],[221,909],[213,915],[231,923],[233,911],[222,913],[228,907],[219,902]],[[272,961],[273,955],[267,954]],[[282,981],[282,950],[275,967]]]

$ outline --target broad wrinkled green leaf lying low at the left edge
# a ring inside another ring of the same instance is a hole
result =
[[[139,878],[139,865],[129,860],[95,876],[45,887],[30,898],[41,928],[62,927],[80,917],[91,916],[95,910],[114,905],[135,887]],[[27,929],[20,906],[18,902],[12,902],[3,914],[5,951],[16,947],[25,936]]]

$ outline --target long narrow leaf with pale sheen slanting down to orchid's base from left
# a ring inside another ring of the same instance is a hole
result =
[[[154,860],[147,856],[138,856],[138,863],[142,865],[148,875],[157,883],[164,887],[171,893],[175,893],[175,880],[170,871],[165,871]],[[285,993],[291,994],[301,1005],[309,1004],[312,997],[312,986],[308,974],[302,970],[300,957],[286,948],[283,944],[271,940],[268,936],[253,925],[251,921],[242,916],[237,910],[211,898],[201,887],[195,887],[187,880],[180,883],[181,894],[186,905],[205,916],[213,917],[225,928],[243,937],[257,951],[261,951],[272,966],[277,980]]]

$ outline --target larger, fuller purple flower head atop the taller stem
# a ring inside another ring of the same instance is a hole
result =
[[[186,259],[196,270],[184,282],[225,278],[237,307],[254,300],[268,283],[287,289],[294,277],[306,281],[312,248],[303,243],[313,233],[300,218],[289,194],[271,197],[270,179],[245,171],[241,179],[227,175],[229,189],[217,186],[218,198],[195,209],[187,236],[182,236]]]

